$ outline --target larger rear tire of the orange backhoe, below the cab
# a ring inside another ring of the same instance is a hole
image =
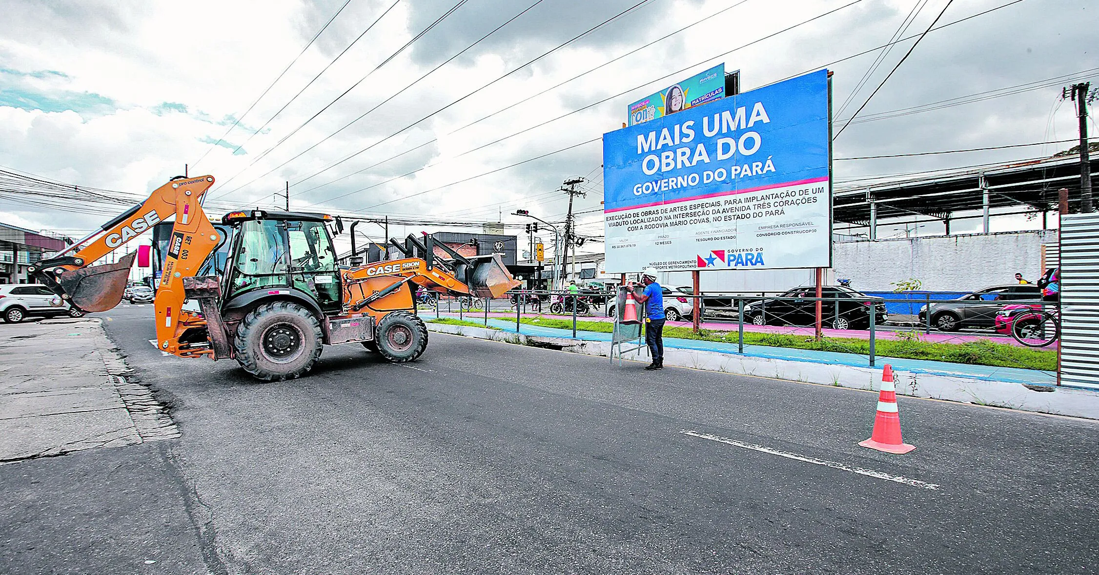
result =
[[[322,348],[321,323],[290,302],[263,304],[236,328],[236,361],[264,381],[296,380],[313,368]]]

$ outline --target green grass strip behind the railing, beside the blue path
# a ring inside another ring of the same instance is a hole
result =
[[[542,327],[573,329],[571,319],[523,318],[522,323]],[[614,330],[614,326],[610,322],[581,322],[578,319],[576,322],[576,329],[610,334]],[[737,340],[735,331],[700,329],[696,334],[689,327],[665,327],[664,337],[720,341],[722,343],[736,343]],[[818,341],[812,337],[803,335],[759,334],[755,331],[744,332],[744,345],[835,351],[861,356],[868,356],[870,352],[870,342],[867,339],[826,337]],[[964,343],[932,343],[920,339],[919,334],[913,334],[907,339],[877,339],[874,342],[874,349],[879,358],[945,361],[948,363],[1042,371],[1055,371],[1057,369],[1056,350],[997,343],[988,339],[978,339]]]

